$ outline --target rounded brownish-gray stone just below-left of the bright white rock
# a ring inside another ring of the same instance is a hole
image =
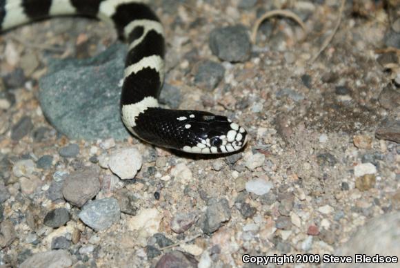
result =
[[[64,198],[77,207],[83,206],[101,190],[99,166],[74,171],[63,183]]]

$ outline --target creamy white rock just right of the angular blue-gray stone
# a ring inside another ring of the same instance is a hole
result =
[[[163,215],[157,209],[141,209],[137,216],[130,218],[129,229],[145,231],[147,236],[152,236],[159,231]]]

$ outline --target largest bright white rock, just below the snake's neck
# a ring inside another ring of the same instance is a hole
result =
[[[108,156],[108,167],[121,180],[134,178],[141,168],[141,155],[135,148],[119,149]]]

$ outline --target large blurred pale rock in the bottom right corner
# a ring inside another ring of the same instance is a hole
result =
[[[400,252],[400,212],[388,213],[368,221],[360,227],[335,256],[354,256],[363,253],[367,256],[397,256]],[[390,265],[389,265],[390,266]],[[394,265],[393,267],[395,267]],[[335,268],[348,267],[345,264],[332,265]],[[352,267],[366,267],[365,264],[353,264]],[[380,263],[372,263],[368,267],[383,267]]]

